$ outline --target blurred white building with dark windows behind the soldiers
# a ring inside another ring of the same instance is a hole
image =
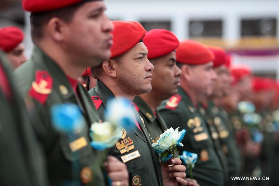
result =
[[[194,39],[224,47],[231,53],[234,63],[249,65],[257,75],[279,79],[279,0],[105,2],[108,7],[106,13],[111,20],[135,20],[146,30],[168,29],[181,40]],[[17,12],[20,12],[19,7]],[[25,43],[28,48],[26,54],[29,55],[32,44],[28,15],[21,17],[26,20],[22,28],[28,33]],[[2,27],[2,13],[0,19]]]

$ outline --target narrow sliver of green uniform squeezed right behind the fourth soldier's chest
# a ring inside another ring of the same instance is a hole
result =
[[[207,112],[206,112],[205,108],[202,106],[202,104],[198,104],[198,111],[200,112],[203,120],[206,121],[206,126],[208,128],[208,131],[211,134],[210,136],[211,136],[211,139],[215,146],[216,153],[218,154],[219,159],[222,163],[223,170],[224,170],[224,178],[225,178],[226,184],[227,184],[227,182],[228,182],[228,160],[227,160],[225,153],[222,150],[222,144],[219,139],[217,127],[214,125],[213,120],[208,117]]]

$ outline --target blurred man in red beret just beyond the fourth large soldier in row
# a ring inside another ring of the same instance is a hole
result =
[[[210,49],[215,54],[213,67],[217,74],[217,78],[214,82],[214,91],[208,98],[206,115],[208,122],[214,125],[218,131],[222,151],[228,160],[228,165],[225,165],[228,169],[228,180],[226,185],[236,185],[236,181],[233,181],[231,177],[240,174],[240,154],[233,131],[228,124],[228,115],[221,105],[221,98],[225,95],[226,88],[231,83],[230,75],[225,66],[227,54],[223,49],[218,47],[210,47]]]

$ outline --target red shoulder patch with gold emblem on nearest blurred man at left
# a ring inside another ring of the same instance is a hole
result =
[[[47,71],[36,71],[35,81],[32,82],[28,94],[38,100],[41,104],[45,104],[48,95],[51,93],[53,80]]]

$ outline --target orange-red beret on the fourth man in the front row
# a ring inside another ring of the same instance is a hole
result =
[[[176,50],[176,60],[185,64],[205,64],[213,61],[213,52],[204,44],[193,40],[180,42]]]

